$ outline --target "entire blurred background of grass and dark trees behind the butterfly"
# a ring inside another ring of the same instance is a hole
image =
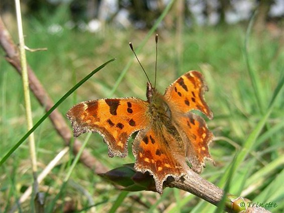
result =
[[[22,2],[26,46],[47,48],[47,51],[27,51],[27,61],[55,102],[91,70],[107,60],[117,59],[59,106],[62,115],[83,100],[127,96],[145,100],[147,79],[133,60],[128,43],[131,41],[137,49],[168,4],[168,1],[146,0]],[[154,31],[159,34],[157,89],[163,93],[189,70],[201,71],[209,87],[205,98],[214,119],[207,122],[215,135],[210,151],[217,166],[208,162],[201,175],[224,187],[221,183],[224,172],[236,153],[251,147],[237,164],[229,192],[255,203],[274,202],[277,207],[268,208],[272,212],[284,209],[283,89],[269,108],[283,77],[284,9],[283,13],[277,11],[281,6],[281,1],[174,1]],[[247,34],[256,9],[251,33]],[[1,1],[0,11],[18,43],[14,1]],[[155,33],[138,53],[152,81]],[[5,60],[3,50],[1,54],[0,158],[3,158],[27,128],[21,77]],[[121,76],[132,61],[126,75]],[[123,78],[118,81],[120,77]],[[259,136],[250,140],[269,110],[271,113]],[[45,114],[33,95],[32,112],[34,123]],[[85,137],[81,135],[79,139],[83,141]],[[63,149],[64,143],[49,120],[35,131],[35,139],[40,172]],[[99,134],[92,134],[86,149],[113,169],[134,162],[132,141],[131,138],[125,159],[109,158],[108,147]],[[29,157],[25,142],[0,167],[0,212],[8,212],[31,185]],[[164,189],[161,196],[147,191],[124,194],[80,163],[58,197],[73,158],[70,152],[40,184],[39,190],[46,192],[46,212],[114,212],[115,209],[117,212],[214,212],[216,208],[188,192],[172,188]],[[33,201],[27,199],[18,210],[33,211]]]

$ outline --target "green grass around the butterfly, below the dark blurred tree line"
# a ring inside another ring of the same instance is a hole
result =
[[[30,48],[48,48],[48,51],[28,53],[27,59],[55,102],[75,84],[73,75],[79,81],[94,68],[117,58],[84,83],[76,91],[75,98],[69,97],[59,106],[63,115],[76,102],[111,94],[122,70],[133,59],[128,42],[137,48],[146,36],[143,31],[126,32],[109,27],[104,34],[97,35],[68,29],[52,35],[48,33],[48,26],[48,23],[43,25],[30,20],[26,25],[25,40]],[[168,84],[188,70],[201,71],[210,88],[205,97],[215,116],[208,121],[208,126],[216,137],[231,140],[236,145],[234,147],[228,140],[212,143],[210,151],[217,167],[208,162],[202,176],[224,188],[226,171],[230,170],[237,155],[229,192],[244,194],[253,202],[276,202],[277,207],[269,210],[281,212],[284,209],[283,89],[273,100],[277,85],[283,83],[284,53],[279,39],[268,32],[261,35],[252,32],[247,37],[246,53],[246,26],[185,29],[182,35],[183,61],[177,69],[174,32],[161,31],[159,36],[158,90],[163,93]],[[152,81],[154,45],[152,35],[138,54]],[[0,60],[0,70],[0,157],[3,158],[27,130],[20,76],[4,59]],[[176,70],[183,72],[176,73]],[[250,75],[250,72],[254,74]],[[256,89],[252,81],[258,85]],[[145,90],[146,77],[134,62],[112,97],[145,99]],[[33,96],[32,110],[36,123],[45,113]],[[86,137],[85,134],[79,138],[84,141]],[[48,120],[35,131],[35,139],[39,169],[42,170],[63,148],[63,141]],[[110,169],[134,161],[131,152],[125,159],[109,158],[107,145],[98,134],[90,136],[86,149]],[[40,191],[47,192],[47,210],[56,208],[60,212],[64,206],[62,203],[70,200],[77,210],[89,209],[93,205],[98,212],[115,212],[116,209],[117,212],[159,212],[164,209],[169,212],[214,212],[216,209],[212,204],[177,189],[167,188],[162,196],[154,192],[121,192],[80,163],[75,165],[66,186],[62,187],[73,158],[71,153],[65,156],[62,164],[41,183]],[[0,212],[9,210],[31,182],[29,149],[25,142],[0,167]],[[131,195],[136,195],[148,207],[130,198]],[[21,209],[28,212],[30,206],[28,200]]]

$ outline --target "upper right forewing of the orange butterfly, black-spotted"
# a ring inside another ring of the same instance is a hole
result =
[[[203,97],[205,91],[208,91],[208,87],[203,75],[198,71],[189,71],[166,88],[164,97],[175,112],[199,110],[212,119],[213,113]]]

